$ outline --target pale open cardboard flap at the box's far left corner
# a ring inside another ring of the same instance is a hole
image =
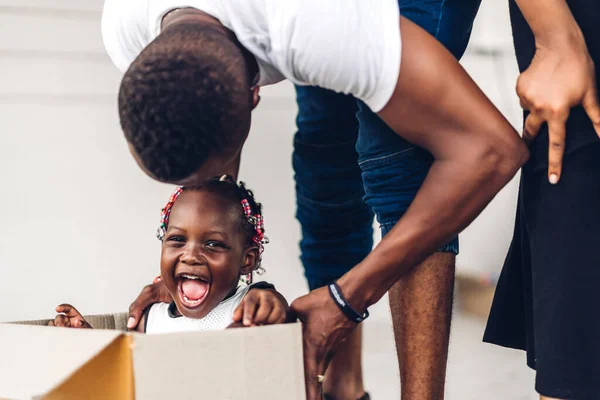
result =
[[[0,398],[28,399],[49,393],[122,335],[0,324]]]

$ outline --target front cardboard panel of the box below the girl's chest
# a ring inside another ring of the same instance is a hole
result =
[[[135,335],[137,400],[305,400],[300,324]]]

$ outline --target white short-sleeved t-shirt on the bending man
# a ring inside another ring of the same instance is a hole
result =
[[[127,70],[158,36],[165,14],[196,8],[232,30],[256,57],[259,85],[283,79],[352,94],[373,111],[400,71],[397,0],[106,0],[104,45]]]

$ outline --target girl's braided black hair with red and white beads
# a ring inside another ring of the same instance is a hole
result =
[[[264,272],[264,269],[260,265],[262,253],[264,251],[264,245],[269,243],[269,239],[265,236],[262,205],[254,199],[254,193],[246,188],[244,182],[237,184],[230,175],[214,177],[197,186],[179,186],[176,188],[161,211],[160,226],[156,231],[158,239],[161,241],[164,239],[169,226],[171,209],[177,201],[177,198],[185,191],[206,191],[214,193],[240,207],[241,229],[248,238],[248,245],[254,244],[258,246],[259,258],[256,263],[256,270],[259,275],[262,274]],[[247,280],[252,280],[251,274],[247,277]]]

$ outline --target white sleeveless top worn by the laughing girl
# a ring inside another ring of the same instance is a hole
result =
[[[174,316],[169,307],[174,303],[156,303],[150,307],[146,316],[146,333],[173,333],[190,331],[219,331],[233,323],[233,312],[242,302],[251,286],[238,286],[235,294],[220,302],[204,318],[195,319],[185,316]]]

